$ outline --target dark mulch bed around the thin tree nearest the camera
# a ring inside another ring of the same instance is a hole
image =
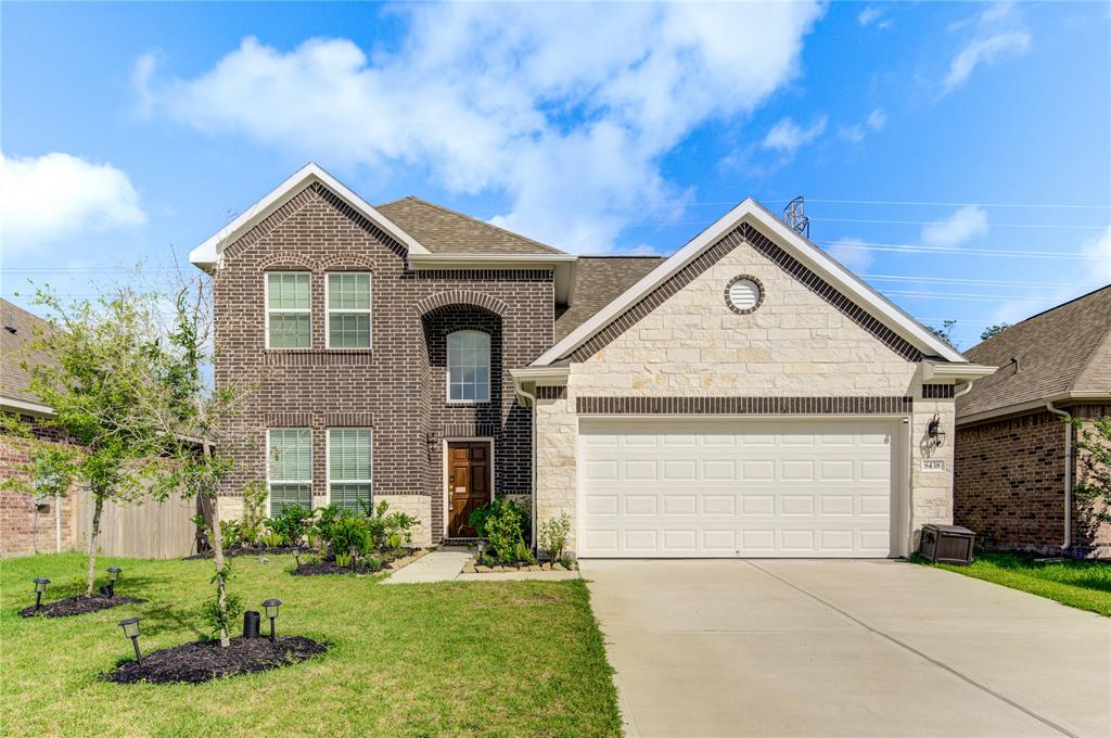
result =
[[[220,648],[218,640],[197,641],[153,651],[143,656],[142,664],[128,660],[101,677],[119,684],[198,685],[217,677],[278,669],[327,650],[324,644],[303,636],[279,637],[273,644],[269,638],[232,638],[228,648]]]

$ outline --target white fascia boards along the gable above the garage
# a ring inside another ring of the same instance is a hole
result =
[[[864,283],[859,277],[830,258],[814,243],[788,228],[783,221],[773,216],[759,202],[752,198],[748,198],[694,237],[663,263],[650,271],[643,279],[625,290],[620,297],[595,313],[593,318],[571,331],[563,340],[541,355],[533,365],[551,363],[577,349],[590,339],[591,336],[602,330],[622,312],[635,305],[645,295],[662,285],[687,266],[688,262],[698,258],[699,255],[745,220],[758,226],[761,231],[771,233],[778,246],[785,249],[791,256],[805,265],[808,269],[843,291],[848,297],[853,298],[862,308],[867,309],[877,319],[881,320],[885,326],[920,350],[935,353],[947,361],[968,363],[968,359],[960,351],[939,339],[924,326]]]

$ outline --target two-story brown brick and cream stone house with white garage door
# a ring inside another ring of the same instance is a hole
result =
[[[316,164],[196,248],[218,383],[252,386],[221,511],[387,500],[421,542],[492,496],[579,556],[887,557],[952,519],[973,365],[753,200],[665,259],[589,258]]]

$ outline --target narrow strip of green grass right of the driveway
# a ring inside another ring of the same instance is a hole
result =
[[[983,551],[967,567],[929,564],[922,559],[919,562],[1111,617],[1111,562],[1041,564],[1034,559],[1022,554]]]

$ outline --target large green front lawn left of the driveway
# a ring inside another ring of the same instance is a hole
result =
[[[144,651],[197,640],[211,561],[102,559],[117,594],[143,597],[72,618],[18,617],[37,576],[48,601],[82,590],[80,555],[0,561],[0,734],[70,736],[619,735],[604,646],[581,581],[389,587],[292,577],[291,557],[237,558],[253,609],[280,597],[279,634],[330,642],[309,661],[204,685],[114,685],[117,622],[138,615]],[[263,626],[266,629],[266,626]]]

